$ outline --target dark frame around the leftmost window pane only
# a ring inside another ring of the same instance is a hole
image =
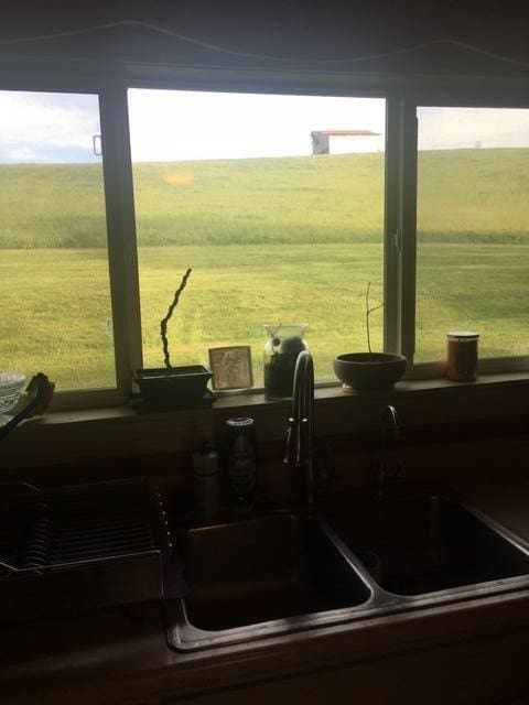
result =
[[[86,77],[0,76],[0,90],[85,94],[98,97],[102,149],[102,181],[107,258],[112,313],[116,387],[57,391],[53,411],[115,406],[130,398],[131,369],[141,367],[138,258],[128,137],[127,94],[121,82]],[[125,100],[123,100],[125,95]],[[127,169],[129,162],[129,169]],[[127,182],[130,174],[130,183]]]

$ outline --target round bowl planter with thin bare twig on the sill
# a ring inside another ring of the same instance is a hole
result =
[[[402,378],[406,372],[406,357],[390,352],[373,352],[369,334],[369,316],[384,306],[369,306],[369,289],[366,291],[366,335],[368,352],[345,352],[334,358],[336,377],[345,389],[386,389]]]

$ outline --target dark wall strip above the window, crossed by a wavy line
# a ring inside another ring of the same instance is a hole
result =
[[[57,0],[43,4],[36,0],[2,3],[0,41],[21,35],[52,34],[117,21],[142,21],[169,32],[192,36],[203,44],[190,44],[168,34],[128,25],[99,33],[60,37],[53,42],[0,44],[0,52],[26,55],[85,55],[97,59],[143,59],[159,62],[199,61],[204,64],[249,65],[251,54],[284,57],[292,62],[322,61],[352,56],[377,56],[355,64],[357,70],[407,73],[479,73],[500,75],[525,70],[515,64],[468,54],[454,45],[404,51],[385,57],[386,52],[407,50],[440,40],[476,45],[488,52],[529,61],[525,3],[501,6],[493,2],[410,0],[373,3],[355,0],[347,4],[235,2],[202,0],[193,3],[154,0],[118,0],[72,3]],[[227,48],[217,52],[208,45]],[[233,52],[231,54],[229,52]],[[382,56],[380,56],[382,55]],[[270,67],[282,63],[268,61]],[[311,66],[307,66],[311,67]],[[353,68],[350,64],[342,67]],[[312,68],[319,68],[316,64]],[[320,68],[325,69],[322,65]]]

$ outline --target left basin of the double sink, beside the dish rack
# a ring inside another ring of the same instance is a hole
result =
[[[368,585],[322,524],[278,514],[190,529],[177,539],[188,626],[240,629],[343,610],[368,600]]]

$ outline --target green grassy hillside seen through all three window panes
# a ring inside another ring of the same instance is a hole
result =
[[[482,333],[482,355],[528,349],[529,150],[419,155],[418,358],[449,328]],[[144,361],[187,265],[174,364],[252,346],[263,323],[304,322],[319,377],[366,348],[364,292],[381,297],[384,155],[134,166]],[[47,371],[58,388],[112,384],[99,165],[0,165],[0,368]],[[381,346],[382,314],[373,317]]]

